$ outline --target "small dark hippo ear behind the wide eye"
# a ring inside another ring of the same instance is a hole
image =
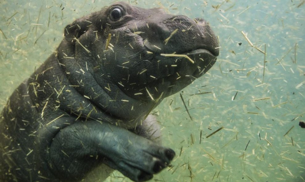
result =
[[[84,18],[77,19],[71,25],[67,25],[64,30],[64,36],[68,42],[73,42],[74,38],[79,38],[88,30],[90,22]]]

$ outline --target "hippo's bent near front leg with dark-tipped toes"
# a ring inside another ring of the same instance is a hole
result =
[[[124,128],[86,121],[59,131],[50,146],[49,163],[61,179],[80,180],[104,163],[131,180],[146,181],[167,167],[174,156],[172,149]]]

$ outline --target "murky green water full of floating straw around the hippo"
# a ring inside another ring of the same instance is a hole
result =
[[[0,108],[56,49],[67,24],[110,2],[2,0]],[[152,181],[305,181],[304,0],[130,2],[205,18],[221,46],[218,62],[183,90],[192,120],[179,93],[153,111],[177,156]],[[115,172],[108,181],[130,180]]]

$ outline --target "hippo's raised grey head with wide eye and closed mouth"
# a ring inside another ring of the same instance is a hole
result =
[[[64,35],[57,54],[70,82],[119,118],[143,115],[208,71],[219,54],[204,19],[124,2],[77,19]]]

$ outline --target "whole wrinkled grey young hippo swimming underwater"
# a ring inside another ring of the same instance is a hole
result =
[[[151,179],[175,152],[154,140],[159,128],[145,116],[212,67],[217,38],[201,18],[123,2],[77,19],[64,36],[2,111],[0,180],[77,181],[101,164]],[[195,63],[160,55],[174,52]]]

